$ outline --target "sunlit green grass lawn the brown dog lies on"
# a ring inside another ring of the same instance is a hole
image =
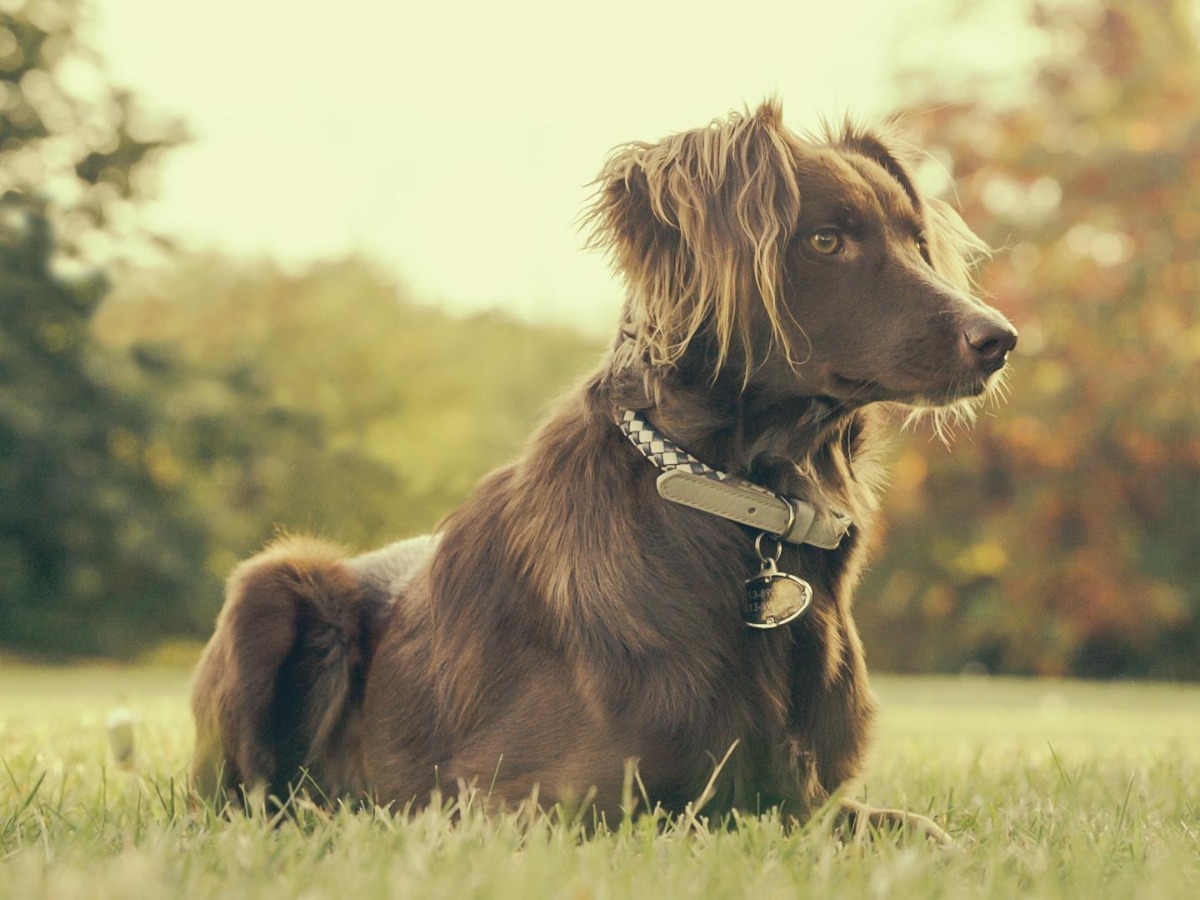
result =
[[[583,838],[556,812],[188,804],[186,672],[0,667],[4,898],[1200,896],[1200,688],[877,678],[856,796],[938,818],[941,852],[841,845],[772,815],[650,817]],[[137,716],[116,767],[114,707]]]

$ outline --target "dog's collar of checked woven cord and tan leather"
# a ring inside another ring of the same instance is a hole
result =
[[[847,516],[824,512],[702,463],[659,434],[640,413],[626,409],[618,425],[642,456],[662,470],[658,488],[664,499],[767,532],[788,544],[835,550],[850,530]]]

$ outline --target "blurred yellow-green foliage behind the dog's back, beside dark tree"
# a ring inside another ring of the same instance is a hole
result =
[[[96,334],[161,370],[156,433],[222,574],[276,528],[356,548],[430,530],[598,355],[572,334],[418,306],[360,259],[287,274],[181,258],[115,290]],[[281,439],[283,422],[301,427]]]

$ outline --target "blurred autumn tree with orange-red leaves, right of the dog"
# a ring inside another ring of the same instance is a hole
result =
[[[1028,8],[1049,52],[1019,100],[910,84],[1021,343],[1009,404],[901,452],[864,630],[896,668],[1196,678],[1198,7]]]

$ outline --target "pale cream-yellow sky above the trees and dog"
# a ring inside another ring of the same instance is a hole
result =
[[[798,130],[869,121],[901,65],[971,78],[1020,55],[1016,4],[983,2],[950,46],[918,24],[943,5],[96,0],[91,43],[193,136],[145,209],[184,246],[360,252],[418,299],[594,330],[622,288],[577,216],[611,148],[766,96]]]

